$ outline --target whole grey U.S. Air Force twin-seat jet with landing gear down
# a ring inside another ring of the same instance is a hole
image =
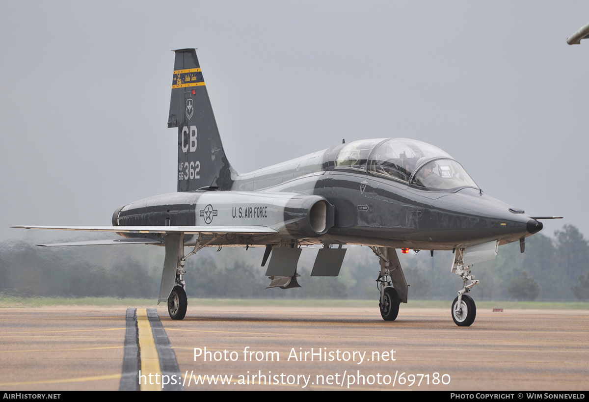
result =
[[[476,307],[467,293],[478,284],[472,265],[494,259],[505,243],[519,242],[524,252],[525,238],[542,229],[538,219],[556,218],[532,217],[486,195],[448,153],[405,138],[342,143],[238,173],[223,150],[196,51],[174,52],[168,128],[178,128],[177,192],[117,208],[112,226],[14,226],[122,236],[46,246],[164,246],[158,303],[167,302],[172,319],[186,315],[186,259],[204,247],[265,247],[268,287],[287,289],[300,287],[302,246],[321,247],[311,276],[337,276],[342,246],[362,245],[380,263],[379,308],[387,321],[408,300],[396,251],[452,250],[451,271],[463,281],[452,318],[469,326]]]

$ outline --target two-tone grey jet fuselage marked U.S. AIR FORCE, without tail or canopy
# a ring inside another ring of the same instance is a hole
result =
[[[426,250],[465,248],[491,240],[504,244],[541,229],[540,222],[478,188],[431,190],[366,170],[336,166],[342,147],[252,173],[232,172],[227,190],[170,193],[125,205],[115,211],[113,224],[259,225],[279,232],[279,236],[201,235],[201,242],[210,246],[297,241]],[[327,217],[329,227],[315,230],[314,222],[305,216],[321,199],[333,206],[333,219]],[[196,239],[187,235],[184,244],[191,245]]]

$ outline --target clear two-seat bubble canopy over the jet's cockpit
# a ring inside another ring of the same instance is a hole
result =
[[[479,188],[448,153],[406,138],[353,141],[337,154],[336,168],[366,170],[428,190]]]

